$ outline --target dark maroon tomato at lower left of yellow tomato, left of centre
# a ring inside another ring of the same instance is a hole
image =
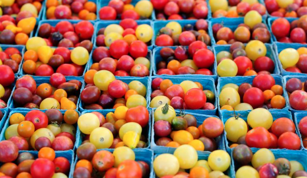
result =
[[[96,86],[84,88],[81,92],[81,101],[86,104],[92,104],[98,101],[100,97],[100,90]]]

